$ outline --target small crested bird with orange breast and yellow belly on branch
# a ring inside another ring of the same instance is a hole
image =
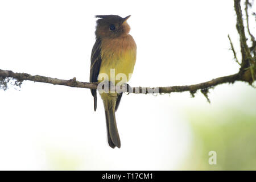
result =
[[[96,42],[90,58],[90,82],[108,81],[112,84],[126,84],[133,73],[137,56],[137,45],[133,36],[129,34],[130,26],[127,23],[130,15],[125,18],[118,15],[96,15],[95,17],[98,19],[95,31]],[[111,73],[113,70],[114,80]],[[118,74],[122,74],[122,80],[115,79]],[[101,75],[106,76],[104,80]],[[96,91],[91,89],[94,111],[97,109]],[[105,109],[109,146],[120,148],[115,111],[121,101],[122,92],[100,93],[100,96]]]

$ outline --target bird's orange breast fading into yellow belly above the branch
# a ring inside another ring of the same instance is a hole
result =
[[[108,80],[115,84],[129,81],[136,61],[136,52],[137,46],[131,35],[102,39],[102,61],[98,81]]]

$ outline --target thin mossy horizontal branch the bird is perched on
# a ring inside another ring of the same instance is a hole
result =
[[[248,72],[248,71],[247,71]],[[191,93],[195,93],[199,89],[209,89],[213,86],[225,84],[225,83],[234,83],[235,81],[246,81],[250,82],[250,75],[236,73],[234,75],[218,77],[213,80],[202,82],[200,84],[194,85],[184,85],[184,86],[166,86],[166,87],[156,87],[156,88],[148,88],[148,87],[134,87],[131,88],[131,92],[126,90],[129,93],[151,93],[150,90],[158,90],[158,93],[172,93],[172,92],[185,92],[189,91]],[[6,71],[0,69],[0,79],[3,80],[4,78],[14,78],[18,82],[22,82],[24,80],[35,81],[35,82],[44,82],[46,84],[53,84],[53,85],[64,85],[64,86],[71,86],[76,88],[87,88],[87,89],[97,89],[98,83],[90,83],[90,82],[80,82],[77,81],[76,78],[72,78],[71,80],[61,80],[58,78],[51,78],[46,76],[35,75],[32,76],[28,73],[14,73],[12,71]],[[122,88],[121,88],[122,89]],[[117,91],[121,91],[118,90]]]

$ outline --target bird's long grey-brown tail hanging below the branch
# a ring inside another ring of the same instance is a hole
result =
[[[104,96],[103,99],[106,114],[106,127],[109,146],[112,148],[114,148],[115,146],[120,148],[121,142],[117,130],[117,122],[115,121],[115,102],[117,97]]]

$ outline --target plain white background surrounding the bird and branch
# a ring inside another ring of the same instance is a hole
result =
[[[131,15],[131,86],[196,84],[238,71],[228,40],[239,51],[233,1],[220,0],[0,1],[0,69],[89,81],[98,14]],[[238,104],[245,90],[255,94],[241,82],[217,86],[210,105],[200,92],[124,95],[121,148],[113,150],[100,97],[94,112],[89,89],[24,81],[0,90],[0,169],[179,169],[193,142],[185,110]]]

